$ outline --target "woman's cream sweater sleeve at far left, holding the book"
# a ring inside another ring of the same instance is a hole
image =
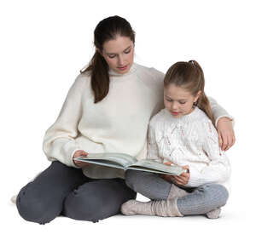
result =
[[[44,135],[43,150],[49,161],[59,160],[67,166],[77,168],[73,163],[73,153],[79,150],[75,138],[81,117],[81,98],[84,78],[77,77],[55,123]]]

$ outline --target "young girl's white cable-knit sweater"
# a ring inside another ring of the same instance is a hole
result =
[[[230,162],[218,146],[218,133],[204,111],[183,117],[161,110],[149,123],[148,158],[189,165],[188,187],[218,183],[230,188]]]

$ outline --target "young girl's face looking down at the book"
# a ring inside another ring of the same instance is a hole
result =
[[[193,103],[198,100],[201,91],[193,96],[189,91],[177,87],[171,83],[164,89],[164,103],[166,110],[170,111],[173,117],[182,117],[193,111]]]

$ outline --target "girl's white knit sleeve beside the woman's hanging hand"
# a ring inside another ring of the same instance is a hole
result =
[[[196,187],[210,182],[224,183],[230,178],[230,162],[225,152],[218,146],[218,133],[211,121],[203,123],[202,130],[205,139],[202,150],[209,157],[210,162],[199,171],[189,166],[189,183],[186,186]]]

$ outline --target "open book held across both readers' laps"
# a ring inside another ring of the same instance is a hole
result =
[[[86,157],[80,156],[74,158],[74,160],[84,163],[98,164],[115,169],[133,169],[156,174],[180,175],[186,172],[186,169],[174,164],[166,165],[151,159],[143,159],[138,161],[136,157],[131,157],[125,153],[89,153]]]

